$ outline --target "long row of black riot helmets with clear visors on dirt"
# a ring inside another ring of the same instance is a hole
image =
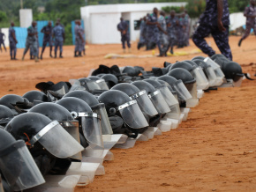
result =
[[[230,63],[221,57],[198,56],[152,71],[100,66],[89,78],[41,82],[35,86],[41,92],[5,95],[0,99],[4,191],[38,186],[46,174],[65,174],[82,156],[100,157],[102,135],[136,138],[163,117],[178,119],[180,107],[198,103],[198,90],[222,85],[224,76],[234,82],[243,77],[236,64],[224,67]]]

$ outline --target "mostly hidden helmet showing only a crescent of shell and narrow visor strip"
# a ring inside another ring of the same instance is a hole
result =
[[[77,90],[73,92],[68,92],[64,95],[64,98],[66,97],[74,97],[79,98],[80,100],[84,100],[92,108],[94,113],[101,115],[102,135],[113,134],[105,105],[103,103],[100,103],[92,93]]]

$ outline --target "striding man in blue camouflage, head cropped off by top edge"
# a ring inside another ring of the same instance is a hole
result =
[[[200,26],[193,34],[192,41],[205,54],[215,55],[204,39],[211,33],[217,47],[232,61],[229,44],[230,11],[228,0],[207,0],[206,11],[200,17]]]

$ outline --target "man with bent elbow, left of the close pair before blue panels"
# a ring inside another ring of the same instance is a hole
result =
[[[52,57],[51,51],[52,51],[52,29],[53,27],[51,26],[51,21],[48,22],[48,26],[43,26],[41,29],[41,33],[43,33],[43,41],[42,41],[42,48],[41,48],[41,56],[40,58],[42,59],[42,54],[44,52],[44,49],[49,43],[49,56]]]

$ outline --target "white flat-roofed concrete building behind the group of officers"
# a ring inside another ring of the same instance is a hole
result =
[[[159,10],[165,6],[185,6],[186,3],[159,4],[107,4],[91,5],[80,8],[81,18],[84,20],[88,43],[106,44],[120,43],[120,32],[117,24],[120,18],[129,20],[131,41],[139,40],[139,30],[134,30],[134,21],[152,13],[154,7]]]

